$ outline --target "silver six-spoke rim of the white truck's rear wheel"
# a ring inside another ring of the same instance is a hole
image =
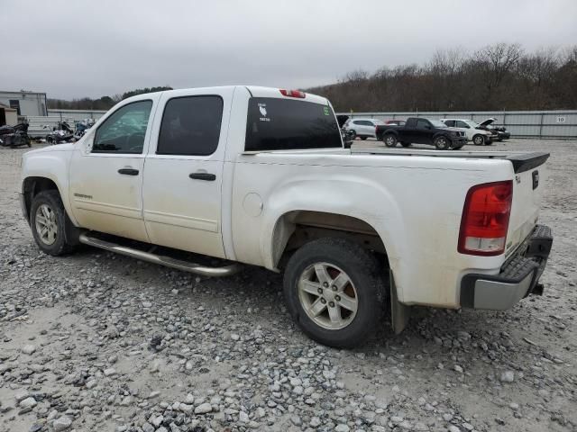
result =
[[[298,279],[298,300],[310,320],[330,330],[351,324],[359,303],[349,275],[328,263],[307,266]]]

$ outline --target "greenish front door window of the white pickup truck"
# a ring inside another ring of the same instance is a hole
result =
[[[96,130],[92,153],[141,154],[151,115],[152,101],[124,105]]]

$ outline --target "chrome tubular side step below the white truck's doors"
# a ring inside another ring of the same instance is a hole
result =
[[[167,266],[170,268],[176,268],[184,272],[194,273],[203,276],[230,276],[238,273],[241,269],[241,265],[233,264],[231,266],[223,267],[207,267],[200,266],[199,264],[190,263],[188,261],[182,261],[180,259],[175,259],[171,257],[162,257],[160,255],[154,255],[149,252],[143,252],[142,250],[134,249],[133,247],[125,247],[112,243],[110,241],[103,240],[101,238],[90,237],[86,232],[80,234],[78,240],[80,243],[84,243],[88,246],[99,247],[101,249],[108,250],[110,252],[115,252],[120,255],[125,255],[126,257],[133,257],[137,259],[142,259],[142,261],[147,261],[153,264],[160,264],[160,266]]]

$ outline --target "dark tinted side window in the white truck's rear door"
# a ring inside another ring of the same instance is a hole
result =
[[[216,95],[175,97],[160,123],[158,155],[208,156],[218,147],[223,99]]]

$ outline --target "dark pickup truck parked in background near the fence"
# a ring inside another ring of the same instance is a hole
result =
[[[461,130],[448,128],[442,121],[422,117],[409,117],[404,126],[378,125],[377,139],[387,147],[403,147],[411,144],[429,144],[439,150],[456,150],[467,143]]]

